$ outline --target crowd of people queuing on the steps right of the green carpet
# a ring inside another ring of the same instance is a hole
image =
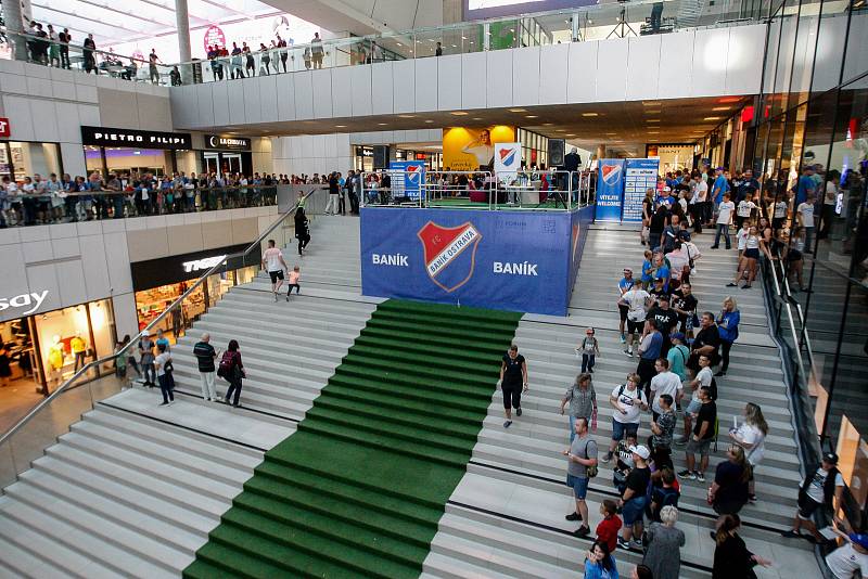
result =
[[[739,536],[740,511],[758,500],[755,474],[762,468],[769,425],[754,401],[744,403],[741,420],[733,417],[731,426],[719,420],[717,399],[726,393],[741,316],[735,295],[710,309],[693,294],[691,280],[702,275],[698,267],[702,252],[695,235],[713,227],[714,242],[706,250],[719,250],[724,245],[738,250],[733,281],[727,285],[750,291],[761,259],[780,255],[792,262],[794,253],[810,250],[810,245],[784,245],[782,240],[790,211],[796,214],[796,231],[814,226],[805,204],[814,202],[816,188],[813,179],[801,179],[787,194],[781,210],[783,197],[765,198],[749,170],[732,178],[724,169],[715,173],[711,178],[700,171],[677,171],[662,179],[656,191],[648,192],[640,234],[640,242],[648,247],[644,262],[639,275],[634,275],[631,267],[624,268],[616,283],[620,338],[624,355],[636,360],[636,370],[611,391],[607,388],[598,400],[593,369],[600,344],[595,329],[587,329],[576,346],[580,374],[567,388],[560,411],[570,416],[570,447],[564,456],[566,485],[575,497],[575,510],[566,519],[579,524],[574,532],[577,537],[596,538],[587,554],[586,577],[616,577],[613,553],[622,549],[643,553],[648,577],[678,578],[679,549],[685,545],[685,535],[676,525],[681,489],[706,484],[706,475],[710,479],[703,494],[718,516],[711,532],[716,545],[713,577],[754,577],[753,567],[771,564],[752,553]],[[773,224],[773,220],[777,221]],[[804,234],[796,233],[796,239],[804,240]],[[773,244],[776,240],[777,245]],[[506,428],[522,414],[527,374],[527,360],[513,346],[501,363]],[[591,436],[598,403],[608,403],[613,410],[612,434],[602,449],[598,443],[603,442]],[[646,413],[650,414],[647,419]],[[681,436],[677,434],[679,419]],[[640,438],[643,421],[647,428]],[[725,456],[712,464],[712,448],[718,441],[725,445]],[[678,448],[684,449],[681,468],[673,462]],[[599,465],[610,463],[612,484],[621,498],[603,501],[592,529],[586,504],[588,485]],[[793,527],[782,533],[784,538],[828,541],[812,517],[824,511],[833,520],[842,504],[844,487],[837,463],[838,456],[828,453],[809,472],[799,491]],[[837,522],[840,524],[845,525]],[[838,531],[845,542],[827,558],[841,579],[868,570],[868,536],[848,530]]]

